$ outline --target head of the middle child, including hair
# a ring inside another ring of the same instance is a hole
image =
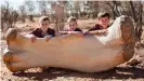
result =
[[[76,29],[78,26],[76,17],[70,16],[67,19],[67,25],[68,25],[68,29],[71,29],[71,30]]]

